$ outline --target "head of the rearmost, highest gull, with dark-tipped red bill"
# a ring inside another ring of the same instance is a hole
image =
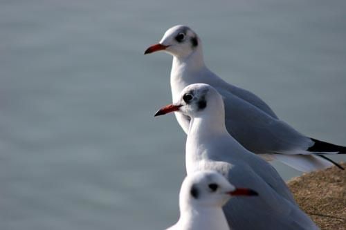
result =
[[[163,35],[158,44],[152,45],[144,54],[163,50],[178,58],[185,58],[201,46],[201,41],[197,34],[188,26],[173,26]]]

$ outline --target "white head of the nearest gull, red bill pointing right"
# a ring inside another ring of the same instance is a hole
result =
[[[216,171],[197,171],[188,175],[179,195],[181,208],[223,207],[237,195],[258,195],[252,189],[236,188]]]

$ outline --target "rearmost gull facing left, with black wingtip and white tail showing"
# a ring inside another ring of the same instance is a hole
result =
[[[188,26],[168,29],[161,41],[145,50],[145,54],[163,50],[173,56],[170,84],[173,101],[190,84],[213,86],[224,97],[226,128],[245,148],[265,160],[279,160],[299,171],[325,169],[336,162],[324,154],[346,153],[345,146],[322,142],[299,133],[280,120],[260,97],[248,90],[228,84],[212,73],[203,61],[202,42]],[[175,113],[185,133],[190,117]]]

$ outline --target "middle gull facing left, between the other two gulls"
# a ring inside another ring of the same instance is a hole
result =
[[[170,112],[191,119],[185,147],[188,175],[217,171],[236,187],[251,187],[260,194],[255,200],[234,198],[232,204],[226,204],[230,229],[318,229],[300,210],[273,166],[228,133],[224,101],[215,88],[208,84],[187,86],[174,104],[161,108],[155,116]]]

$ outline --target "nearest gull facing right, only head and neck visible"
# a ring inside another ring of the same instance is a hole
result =
[[[192,173],[181,184],[180,218],[167,230],[230,230],[222,207],[230,198],[239,195],[258,193],[252,189],[235,188],[216,171]]]

